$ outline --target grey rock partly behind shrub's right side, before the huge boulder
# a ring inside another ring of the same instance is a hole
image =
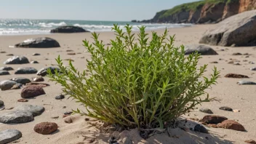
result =
[[[200,55],[218,55],[211,47],[204,45],[193,44],[185,46],[185,55],[190,55],[193,52],[198,52]]]

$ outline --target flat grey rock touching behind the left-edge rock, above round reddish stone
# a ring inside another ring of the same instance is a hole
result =
[[[39,105],[20,105],[15,108],[16,111],[29,111],[33,116],[39,116],[44,112],[44,107]]]

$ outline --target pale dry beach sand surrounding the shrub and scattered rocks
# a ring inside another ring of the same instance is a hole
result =
[[[176,35],[175,45],[179,46],[180,44],[198,44],[200,37],[207,30],[207,28],[212,25],[195,25],[190,28],[171,28],[169,29],[169,34]],[[163,33],[164,30],[158,30],[158,33]],[[34,38],[38,36],[49,36],[53,39],[59,41],[60,48],[52,49],[25,49],[25,48],[9,48],[10,45],[17,44],[25,39]],[[109,43],[110,39],[113,39],[114,35],[112,32],[103,32],[100,33],[100,39],[105,41],[105,44]],[[24,65],[9,65],[17,69],[22,66],[29,66],[36,69],[44,68],[45,66],[50,66],[56,64],[55,58],[57,55],[60,55],[62,59],[71,58],[74,60],[74,65],[79,70],[83,70],[86,67],[86,59],[89,58],[89,53],[84,52],[85,49],[82,46],[82,40],[87,39],[92,41],[90,33],[71,33],[71,34],[51,34],[51,35],[33,35],[33,36],[0,36],[0,51],[5,51],[7,53],[0,54],[0,62],[3,63],[10,56],[7,54],[13,55],[23,55],[28,57],[30,61],[37,60],[39,64],[24,64]],[[212,89],[207,90],[210,97],[216,97],[218,101],[213,101],[210,103],[203,103],[199,108],[210,108],[216,115],[226,116],[228,119],[233,119],[239,121],[247,132],[239,132],[231,129],[209,129],[210,135],[201,134],[198,132],[184,132],[180,129],[172,129],[172,137],[168,135],[154,135],[148,140],[143,140],[138,137],[137,131],[132,130],[129,132],[129,135],[132,135],[137,142],[135,143],[244,143],[244,140],[255,139],[256,140],[256,86],[239,86],[236,84],[237,81],[241,79],[228,79],[225,78],[227,73],[239,73],[249,76],[250,81],[256,81],[256,76],[253,71],[250,71],[249,68],[254,67],[255,65],[249,64],[249,61],[256,62],[256,49],[253,47],[212,47],[219,53],[215,56],[203,56],[199,61],[200,65],[209,64],[207,71],[207,76],[212,72],[211,69],[214,66],[217,66],[217,69],[221,71],[221,78],[218,79],[218,84]],[[66,50],[72,49],[74,52],[81,54],[76,55],[67,55]],[[220,49],[225,49],[221,51]],[[34,52],[40,53],[39,56],[32,56]],[[233,56],[234,52],[249,53],[249,57],[243,55]],[[241,65],[232,65],[228,64],[229,59],[240,60]],[[47,60],[48,59],[48,60]],[[223,60],[219,60],[223,59]],[[243,60],[248,60],[243,62]],[[217,64],[212,64],[210,62],[217,61]],[[68,61],[65,61],[67,65]],[[4,64],[0,64],[4,66]],[[17,76],[23,76],[28,79],[31,79],[35,74],[27,75],[15,75],[14,71],[10,71],[11,75],[9,76],[0,76],[0,80],[5,80]],[[21,89],[7,90],[0,92],[0,100],[3,100],[6,108],[16,107],[17,105],[22,104],[31,104],[31,105],[42,105],[46,109],[41,116],[36,116],[34,121],[25,124],[0,124],[0,130],[4,129],[18,129],[23,133],[23,137],[17,140],[17,143],[89,143],[89,140],[85,140],[84,136],[87,137],[96,137],[95,142],[93,143],[108,143],[108,135],[100,133],[95,127],[92,127],[87,121],[84,121],[84,116],[76,115],[72,124],[66,124],[63,121],[63,113],[65,111],[71,111],[72,109],[80,108],[85,110],[83,106],[79,103],[76,103],[74,100],[67,99],[55,100],[55,96],[59,95],[61,91],[60,85],[56,85],[51,81],[46,83],[50,84],[50,87],[45,87],[44,90],[47,95],[41,95],[35,97],[34,99],[29,99],[28,103],[17,102],[20,99]],[[66,108],[63,108],[63,107]],[[234,113],[228,111],[219,110],[221,106],[229,106],[233,109],[239,109],[241,112]],[[0,113],[5,113],[12,110],[0,111]],[[188,116],[189,114],[189,116]],[[187,118],[197,118],[201,119],[206,113],[201,113],[198,110],[192,111],[185,115]],[[59,116],[58,119],[51,119],[52,116]],[[58,131],[52,135],[40,135],[33,131],[33,127],[44,121],[51,121],[58,124]],[[179,137],[179,138],[177,138]],[[209,140],[207,140],[207,137]]]

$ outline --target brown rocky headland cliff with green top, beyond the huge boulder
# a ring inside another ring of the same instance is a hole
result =
[[[140,23],[218,23],[240,12],[256,9],[256,0],[204,0],[157,12]]]

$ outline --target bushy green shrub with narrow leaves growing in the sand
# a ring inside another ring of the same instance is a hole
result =
[[[87,70],[79,72],[72,63],[64,66],[56,59],[63,74],[49,77],[63,86],[63,92],[84,104],[92,118],[123,127],[163,129],[196,105],[209,101],[205,89],[216,83],[214,68],[210,79],[203,76],[207,65],[197,68],[199,54],[185,56],[184,47],[174,47],[174,36],[152,32],[151,39],[140,28],[138,41],[127,25],[123,32],[113,26],[116,39],[105,47],[97,33],[94,43],[84,41],[91,54]],[[202,98],[204,96],[204,98]]]

